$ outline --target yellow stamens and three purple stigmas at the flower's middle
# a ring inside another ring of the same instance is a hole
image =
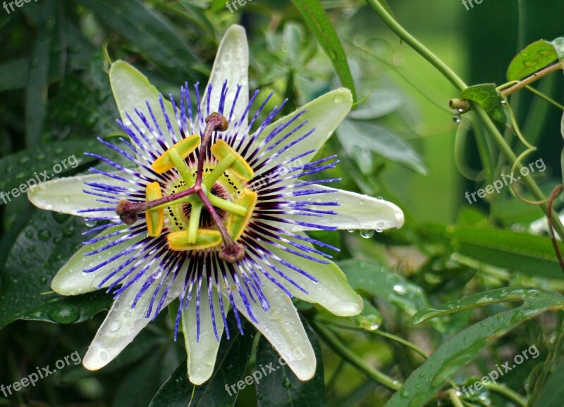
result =
[[[152,163],[152,168],[157,173],[165,173],[176,168],[183,182],[189,187],[176,194],[162,196],[161,186],[153,182],[147,186],[147,201],[131,203],[121,201],[116,207],[123,223],[133,225],[137,215],[145,212],[149,236],[156,237],[161,234],[164,225],[164,208],[178,203],[190,204],[188,216],[188,230],[176,230],[168,233],[168,246],[172,250],[187,251],[207,249],[221,244],[219,258],[228,263],[240,261],[245,256],[243,244],[237,242],[250,220],[252,211],[257,202],[257,194],[250,189],[243,189],[243,196],[237,202],[228,201],[221,196],[211,193],[217,180],[229,170],[243,182],[252,180],[254,172],[245,158],[233,150],[223,139],[217,140],[212,146],[212,135],[216,131],[225,131],[228,121],[219,113],[212,113],[206,119],[204,135],[190,136],[174,144],[164,154]],[[197,170],[195,176],[186,162],[186,158],[200,146]],[[203,180],[204,161],[207,151],[211,151],[217,163],[206,179]],[[200,228],[202,210],[206,208],[216,230]],[[229,213],[226,223],[221,218],[218,210]]]

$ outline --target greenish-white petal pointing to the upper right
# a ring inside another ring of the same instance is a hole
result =
[[[315,128],[315,131],[306,139],[288,148],[288,150],[284,151],[280,156],[273,158],[271,161],[268,161],[267,164],[264,165],[263,168],[261,168],[261,170],[257,171],[257,175],[260,175],[264,171],[269,170],[270,168],[274,167],[274,165],[283,163],[289,158],[293,158],[295,156],[298,156],[299,154],[305,153],[305,151],[318,151],[319,149],[321,149],[327,139],[331,137],[331,134],[333,134],[337,126],[348,114],[351,106],[353,106],[353,95],[350,93],[350,90],[339,88],[322,96],[319,96],[317,99],[310,101],[308,104],[302,106],[295,112],[290,113],[289,115],[281,118],[280,120],[277,120],[275,123],[272,123],[271,125],[266,127],[266,129],[262,132],[261,137],[259,137],[259,141],[262,141],[262,139],[268,136],[275,127],[281,125],[281,123],[288,123],[288,120],[290,120],[290,118],[293,118],[298,113],[305,111],[305,113],[303,113],[296,122],[290,125],[289,129],[291,130],[297,127],[299,123],[304,123],[305,120],[308,120],[307,125],[303,126],[300,130],[292,134],[292,136],[288,137],[288,139],[280,144],[278,149],[292,142],[295,142],[296,139],[299,139],[313,128]],[[278,137],[287,134],[288,132],[289,130],[286,129]],[[274,141],[276,141],[278,137],[275,137]],[[309,154],[308,156],[300,158],[300,161],[302,164],[309,163],[309,161],[312,161],[312,158],[314,158],[314,156],[315,154]],[[292,165],[298,164],[298,161],[292,163]]]

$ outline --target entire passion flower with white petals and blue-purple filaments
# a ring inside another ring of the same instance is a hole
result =
[[[290,298],[336,315],[361,311],[362,300],[324,253],[336,248],[305,231],[384,230],[400,227],[403,213],[323,185],[331,179],[300,178],[338,162],[314,156],[350,110],[350,92],[329,92],[276,122],[281,107],[274,108],[259,123],[269,98],[254,107],[247,70],[238,26],[223,38],[208,86],[200,93],[186,84],[178,103],[165,101],[132,66],[114,63],[111,87],[128,138],[122,147],[100,142],[130,165],[92,154],[116,171],[92,168],[29,193],[39,208],[98,223],[89,231],[97,235],[51,284],[63,295],[115,294],[83,358],[86,368],[109,363],[179,299],[175,337],[182,324],[190,381],[212,375],[230,310],[239,330],[243,315],[307,380],[315,356]]]

